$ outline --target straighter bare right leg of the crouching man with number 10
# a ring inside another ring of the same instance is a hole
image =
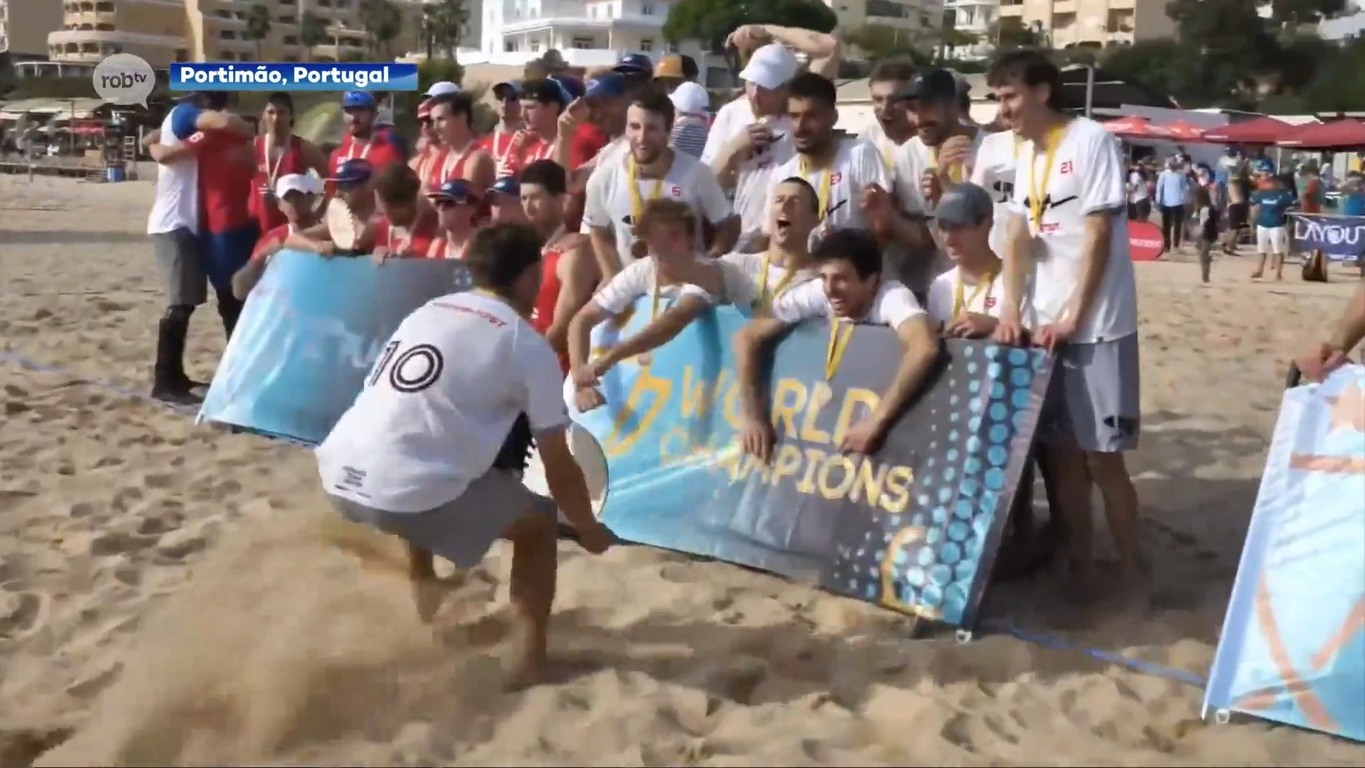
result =
[[[520,625],[520,646],[509,683],[526,687],[545,674],[558,570],[558,527],[554,518],[532,511],[508,529],[505,537],[512,541],[511,597]]]

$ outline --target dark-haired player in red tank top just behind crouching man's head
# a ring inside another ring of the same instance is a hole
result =
[[[560,355],[569,373],[569,323],[591,298],[598,284],[597,258],[587,235],[569,230],[564,221],[568,174],[553,160],[536,160],[521,171],[521,202],[526,217],[545,241],[541,249],[541,292],[535,299],[531,325]]]

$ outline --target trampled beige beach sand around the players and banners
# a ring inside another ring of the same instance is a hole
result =
[[[1007,635],[912,640],[886,611],[644,548],[561,545],[556,676],[502,693],[509,552],[418,623],[394,544],[328,514],[311,456],[145,391],[161,313],[150,184],[0,178],[0,765],[1361,765],[1365,748]],[[1149,608],[987,614],[1205,675],[1284,362],[1351,280],[1197,284],[1138,265]],[[221,328],[195,314],[191,373]]]

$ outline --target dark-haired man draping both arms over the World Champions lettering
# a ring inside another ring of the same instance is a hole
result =
[[[744,426],[740,444],[764,463],[773,461],[777,443],[760,391],[759,361],[764,350],[790,325],[824,320],[830,328],[824,379],[838,376],[839,359],[856,324],[886,325],[895,331],[904,354],[895,377],[863,421],[852,425],[839,448],[874,454],[886,432],[939,359],[939,336],[915,294],[894,280],[882,279],[882,247],[871,232],[834,230],[820,238],[814,251],[820,280],[803,283],[773,301],[771,317],[755,317],[734,336],[734,366]]]

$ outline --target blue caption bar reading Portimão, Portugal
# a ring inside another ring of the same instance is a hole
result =
[[[171,64],[171,90],[416,90],[418,66],[202,61]]]

